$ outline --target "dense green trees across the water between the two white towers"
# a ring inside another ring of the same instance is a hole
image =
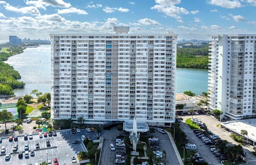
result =
[[[208,45],[177,48],[177,68],[208,69]]]

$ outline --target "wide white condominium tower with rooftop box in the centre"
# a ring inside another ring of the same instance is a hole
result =
[[[166,34],[50,34],[51,117],[175,121],[176,40]]]

